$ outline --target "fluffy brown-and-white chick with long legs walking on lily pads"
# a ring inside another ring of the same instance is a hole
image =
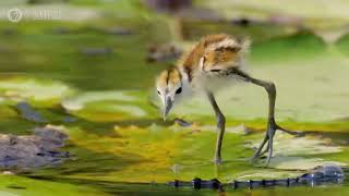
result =
[[[252,161],[268,152],[265,166],[273,156],[273,139],[275,132],[280,130],[288,134],[298,132],[282,128],[275,121],[276,86],[273,82],[251,76],[245,71],[245,56],[249,53],[251,41],[227,34],[207,35],[156,77],[156,90],[163,105],[163,118],[166,120],[174,105],[190,99],[193,94],[201,91],[209,100],[217,122],[217,140],[214,163],[222,163],[221,144],[225,133],[226,118],[221,112],[215,93],[236,82],[251,83],[263,87],[268,95],[268,117],[264,139],[254,152]],[[264,149],[265,144],[267,147]],[[264,150],[263,150],[264,149]],[[262,151],[263,150],[263,151]]]

